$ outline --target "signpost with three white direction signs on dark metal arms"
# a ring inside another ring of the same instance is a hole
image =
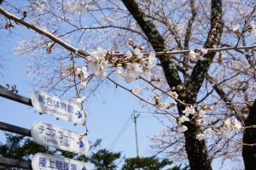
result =
[[[16,90],[15,90],[16,91]],[[60,99],[55,96],[42,92],[34,92],[32,99],[26,98],[15,91],[0,86],[0,96],[11,99],[24,105],[35,108],[36,111],[43,114],[55,116],[75,124],[85,124],[85,113],[81,105],[77,102],[67,99]],[[35,122],[31,130],[17,127],[5,122],[0,122],[0,130],[19,133],[31,137],[38,144],[52,146],[60,150],[71,151],[79,154],[85,154],[89,150],[89,142],[86,136],[79,133],[55,127],[44,122]],[[0,156],[0,166],[21,167],[34,170],[88,170],[89,168],[82,161],[75,161],[67,158],[50,156],[38,153],[32,158],[32,167],[29,161],[20,161]]]

